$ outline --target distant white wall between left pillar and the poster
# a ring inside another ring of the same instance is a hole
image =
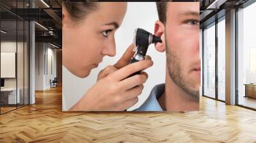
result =
[[[56,77],[56,49],[48,43],[36,43],[35,47],[35,90],[49,89],[50,79]],[[52,57],[52,73],[49,57]]]

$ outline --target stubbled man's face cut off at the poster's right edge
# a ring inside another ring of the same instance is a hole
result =
[[[165,24],[166,64],[173,82],[198,98],[200,87],[199,3],[168,3]]]

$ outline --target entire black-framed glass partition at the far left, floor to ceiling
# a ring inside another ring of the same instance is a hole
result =
[[[28,0],[0,1],[1,5],[14,13],[16,8],[29,8],[28,3]],[[29,23],[10,11],[0,8],[0,70],[3,73],[0,93],[1,113],[29,103]]]

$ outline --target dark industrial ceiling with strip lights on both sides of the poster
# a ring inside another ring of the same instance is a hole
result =
[[[225,15],[225,11],[240,6],[248,0],[198,1],[200,1],[200,27],[202,28]],[[23,33],[24,27],[21,22],[18,22],[16,32],[16,20],[35,20],[41,25],[35,24],[36,41],[51,42],[61,46],[61,3],[61,0],[1,0],[1,29],[8,31],[10,35],[17,33],[19,35]]]

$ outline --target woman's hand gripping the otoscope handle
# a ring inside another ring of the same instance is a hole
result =
[[[129,75],[149,68],[153,62],[148,58],[145,61],[129,64],[133,54],[130,46],[114,66],[102,70],[96,84],[70,110],[120,111],[129,109],[137,103],[148,75],[145,72],[132,77]]]

